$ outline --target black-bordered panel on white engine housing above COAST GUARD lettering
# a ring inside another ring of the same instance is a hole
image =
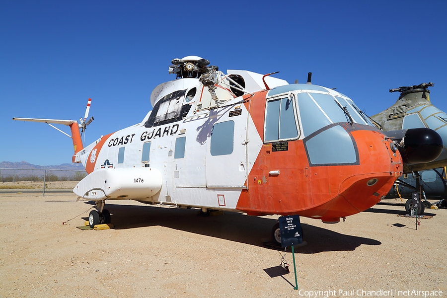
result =
[[[188,95],[191,92],[188,93]],[[172,92],[160,100],[154,105],[152,113],[149,116],[148,121],[145,123],[145,127],[154,127],[163,125],[175,121],[179,121],[186,117],[191,109],[191,105],[183,104],[185,98],[186,89]]]

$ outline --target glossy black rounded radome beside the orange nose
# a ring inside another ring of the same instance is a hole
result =
[[[403,149],[405,163],[426,163],[435,160],[443,150],[443,139],[429,128],[411,128],[405,132]]]

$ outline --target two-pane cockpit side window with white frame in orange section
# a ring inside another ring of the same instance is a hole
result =
[[[298,138],[293,98],[267,102],[264,134],[266,142]]]

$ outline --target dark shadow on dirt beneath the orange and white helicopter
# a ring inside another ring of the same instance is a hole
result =
[[[246,243],[259,247],[284,250],[278,246],[266,246],[265,239],[272,239],[271,230],[276,219],[252,217],[236,212],[224,212],[216,216],[197,216],[198,209],[161,208],[156,206],[109,204],[114,229],[163,226],[210,237]],[[380,245],[381,242],[364,237],[334,232],[330,229],[301,224],[306,246],[296,253],[323,251],[352,251],[361,245]],[[329,226],[330,228],[330,226]]]

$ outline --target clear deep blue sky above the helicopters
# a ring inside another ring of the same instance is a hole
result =
[[[173,58],[312,82],[369,115],[432,81],[447,112],[447,1],[0,0],[0,161],[71,162],[71,139],[12,117],[79,119],[86,141],[142,121]],[[61,129],[69,133],[68,127]]]

